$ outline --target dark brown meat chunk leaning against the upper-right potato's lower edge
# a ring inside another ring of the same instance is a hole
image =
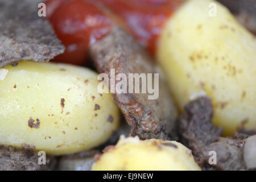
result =
[[[216,142],[222,133],[212,123],[212,102],[209,97],[199,97],[189,102],[180,119],[180,132],[198,164],[204,164],[200,148]]]

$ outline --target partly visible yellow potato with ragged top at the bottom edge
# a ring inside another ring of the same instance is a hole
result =
[[[175,141],[121,137],[106,148],[92,170],[201,170],[191,150]]]

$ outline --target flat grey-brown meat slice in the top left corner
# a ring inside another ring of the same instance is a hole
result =
[[[40,2],[0,1],[0,68],[22,60],[46,62],[64,52],[51,25],[38,16]]]

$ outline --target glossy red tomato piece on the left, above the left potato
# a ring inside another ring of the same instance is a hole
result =
[[[113,21],[89,0],[49,0],[46,6],[49,9],[47,18],[66,48],[52,61],[88,64],[89,45],[108,34]]]

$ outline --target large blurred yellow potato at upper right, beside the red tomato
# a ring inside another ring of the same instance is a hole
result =
[[[216,16],[208,14],[210,3]],[[256,39],[220,3],[191,0],[177,10],[164,27],[158,60],[180,110],[204,90],[224,135],[256,129]]]

